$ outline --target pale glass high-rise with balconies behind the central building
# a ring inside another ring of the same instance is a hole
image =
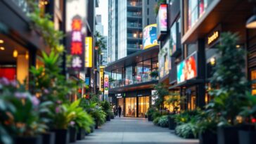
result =
[[[108,1],[108,60],[113,62],[142,47],[142,1]]]

